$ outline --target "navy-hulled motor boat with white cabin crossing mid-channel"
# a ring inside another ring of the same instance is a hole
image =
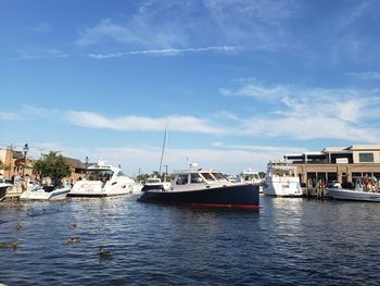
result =
[[[175,172],[168,190],[149,189],[138,200],[194,207],[259,208],[258,186],[231,183],[220,172],[193,165]]]

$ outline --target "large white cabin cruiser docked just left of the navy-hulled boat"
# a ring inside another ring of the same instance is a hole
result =
[[[124,175],[119,167],[106,165],[104,161],[89,166],[86,177],[74,184],[68,197],[109,197],[137,194],[141,185]]]

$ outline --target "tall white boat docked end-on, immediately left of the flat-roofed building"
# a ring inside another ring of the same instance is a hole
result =
[[[284,162],[269,162],[264,194],[274,197],[301,197],[303,194],[296,166]]]

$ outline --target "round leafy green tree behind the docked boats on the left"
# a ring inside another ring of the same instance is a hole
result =
[[[69,164],[56,152],[50,151],[50,153],[42,159],[36,161],[33,172],[39,174],[40,177],[50,177],[54,185],[64,177],[69,176]]]

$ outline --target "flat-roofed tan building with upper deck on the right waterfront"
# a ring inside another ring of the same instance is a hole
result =
[[[380,179],[380,145],[327,147],[320,152],[284,154],[283,158],[297,167],[302,184],[319,179],[345,184],[366,175]]]

